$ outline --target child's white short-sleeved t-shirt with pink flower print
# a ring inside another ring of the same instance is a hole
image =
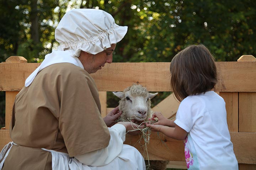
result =
[[[184,144],[189,170],[238,170],[225,102],[214,91],[186,97],[174,123],[188,132]]]

